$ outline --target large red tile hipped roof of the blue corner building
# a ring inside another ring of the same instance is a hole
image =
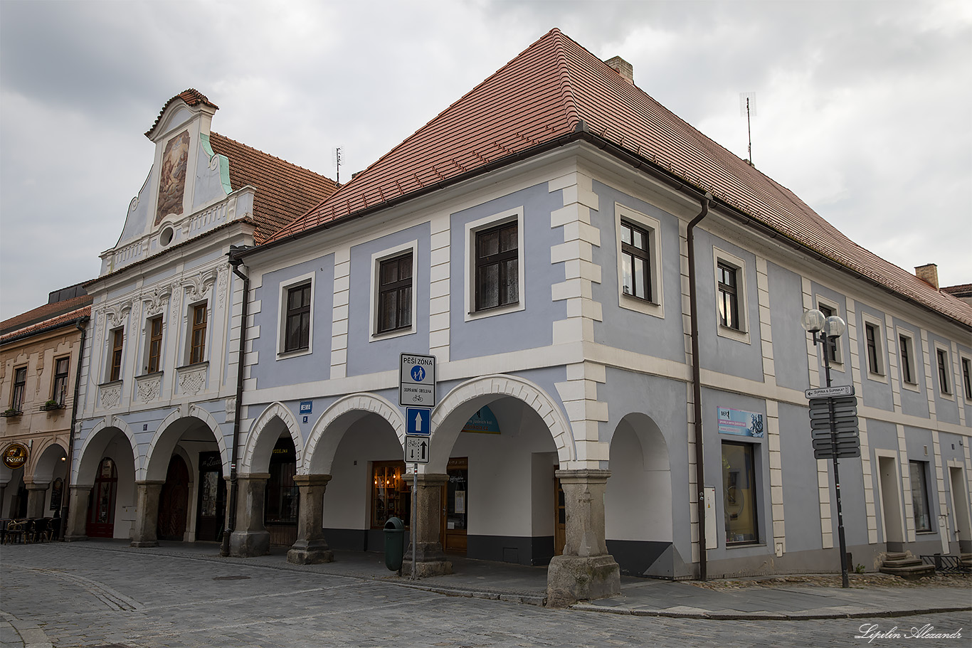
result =
[[[538,152],[587,130],[784,237],[953,320],[972,307],[853,243],[789,189],[625,81],[553,29],[350,183],[275,233],[277,241]]]

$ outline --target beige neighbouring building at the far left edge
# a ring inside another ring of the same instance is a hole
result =
[[[72,286],[0,323],[0,517],[61,517],[91,297]]]

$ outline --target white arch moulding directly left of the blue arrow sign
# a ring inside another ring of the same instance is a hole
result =
[[[306,471],[300,470],[298,466],[297,473],[330,474],[330,464],[344,432],[367,414],[376,414],[387,421],[399,437],[399,445],[404,448],[405,419],[401,410],[391,401],[374,393],[352,393],[331,403],[314,424],[307,439]]]

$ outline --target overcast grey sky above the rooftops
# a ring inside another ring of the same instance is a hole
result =
[[[559,27],[852,240],[972,282],[972,2],[0,0],[0,320],[94,278],[165,102],[341,180]]]

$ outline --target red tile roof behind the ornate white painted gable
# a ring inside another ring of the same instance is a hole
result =
[[[211,132],[215,153],[229,158],[229,185],[233,190],[250,185],[254,197],[254,235],[260,245],[273,232],[292,222],[337,189],[330,178]]]

